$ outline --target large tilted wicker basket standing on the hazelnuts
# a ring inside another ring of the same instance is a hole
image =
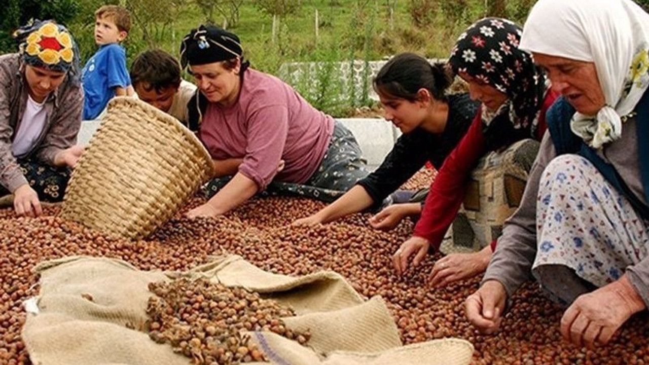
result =
[[[116,97],[72,173],[61,216],[140,239],[169,220],[212,171],[208,151],[180,122],[143,101]]]

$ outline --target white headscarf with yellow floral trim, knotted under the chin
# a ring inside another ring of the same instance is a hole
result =
[[[595,116],[576,112],[570,126],[600,148],[620,137],[622,121],[649,86],[649,14],[631,0],[540,0],[520,49],[594,62],[606,105]]]

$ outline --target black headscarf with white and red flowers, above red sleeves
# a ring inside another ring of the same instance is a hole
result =
[[[482,107],[490,150],[535,137],[547,85],[530,54],[519,49],[520,34],[507,19],[480,19],[459,36],[448,59],[455,73],[468,73],[508,97],[495,112]]]

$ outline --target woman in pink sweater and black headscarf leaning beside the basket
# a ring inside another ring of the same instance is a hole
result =
[[[184,38],[180,56],[199,88],[193,114],[215,177],[234,175],[210,183],[218,191],[188,216],[224,214],[270,190],[271,181],[274,194],[332,201],[367,175],[351,132],[285,82],[249,68],[235,34],[201,25]]]

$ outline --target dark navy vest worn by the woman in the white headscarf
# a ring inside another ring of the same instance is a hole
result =
[[[649,201],[649,92],[644,93],[642,99],[635,106],[635,111],[637,112],[635,118],[637,118],[638,155],[644,199]],[[624,194],[635,211],[644,219],[649,220],[649,207],[631,192],[615,167],[599,157],[593,148],[585,144],[582,138],[570,130],[570,119],[574,112],[574,108],[568,101],[564,97],[559,97],[546,113],[548,130],[557,155],[574,153],[587,158],[620,194]]]

